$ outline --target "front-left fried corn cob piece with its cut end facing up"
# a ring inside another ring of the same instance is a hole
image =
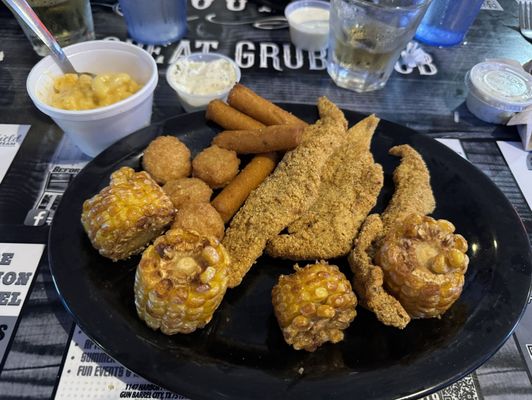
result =
[[[171,229],[142,254],[135,274],[139,317],[166,335],[211,320],[227,289],[229,255],[214,237]]]

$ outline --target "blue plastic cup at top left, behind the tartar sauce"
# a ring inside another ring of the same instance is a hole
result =
[[[187,32],[187,0],[120,0],[129,36],[143,44],[168,44]]]

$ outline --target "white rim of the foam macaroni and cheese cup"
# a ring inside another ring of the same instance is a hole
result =
[[[100,47],[103,45],[103,47]],[[26,90],[28,92],[28,95],[32,99],[35,106],[41,110],[43,113],[49,115],[52,118],[60,118],[64,120],[96,120],[101,118],[107,118],[112,115],[116,115],[120,112],[124,111],[124,104],[128,105],[128,108],[132,108],[136,106],[137,104],[141,103],[146,96],[148,96],[150,93],[153,92],[155,87],[157,86],[159,74],[157,69],[157,64],[155,63],[155,60],[153,57],[144,49],[132,45],[130,43],[120,42],[120,41],[114,41],[114,40],[89,40],[82,43],[73,44],[70,46],[67,46],[64,48],[64,51],[67,55],[73,55],[76,54],[79,51],[84,50],[97,50],[99,48],[117,48],[117,49],[123,49],[123,50],[133,50],[133,53],[138,54],[140,57],[142,57],[144,60],[146,60],[152,70],[152,74],[150,75],[150,79],[148,82],[146,82],[142,88],[134,93],[133,95],[120,100],[116,103],[110,104],[108,106],[104,107],[98,107],[90,110],[63,110],[61,108],[52,107],[49,104],[46,104],[43,102],[39,96],[35,93],[34,89],[35,87],[32,87],[31,83],[34,83],[35,76],[37,74],[37,70],[40,66],[43,64],[51,65],[54,64],[54,61],[52,59],[52,56],[48,55],[44,57],[42,60],[40,60],[37,64],[33,66],[30,73],[28,74],[28,77],[26,79]],[[83,71],[82,71],[83,72]],[[90,72],[90,71],[87,71]],[[40,74],[40,73],[39,73]]]

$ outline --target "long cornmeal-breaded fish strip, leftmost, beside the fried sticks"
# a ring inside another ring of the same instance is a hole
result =
[[[266,243],[316,200],[323,167],[344,141],[347,121],[325,97],[321,119],[305,128],[300,145],[285,154],[274,172],[251,194],[231,221],[223,245],[232,260],[229,287],[237,286]]]

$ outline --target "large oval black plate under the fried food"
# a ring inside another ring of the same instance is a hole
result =
[[[308,121],[310,105],[283,105]],[[346,111],[350,123],[363,116]],[[109,355],[146,379],[193,399],[369,399],[426,395],[485,362],[517,324],[530,287],[528,238],[513,207],[482,172],[445,146],[382,121],[373,140],[385,171],[376,210],[393,191],[401,143],[427,162],[437,200],[435,216],[453,221],[470,244],[470,267],[460,299],[442,319],[413,321],[403,331],[359,315],[343,342],[315,353],[287,346],[273,316],[270,291],[292,263],[261,257],[244,282],[229,290],[212,322],[190,335],[165,336],[137,318],[133,276],[138,257],[112,263],[99,256],[79,222],[81,206],[108,184],[111,172],[139,169],[143,149],[159,134],[173,134],[193,152],[218,131],[203,113],[143,129],[96,157],[70,184],[55,214],[49,255],[65,306],[83,331]],[[344,272],[351,274],[344,262]]]

